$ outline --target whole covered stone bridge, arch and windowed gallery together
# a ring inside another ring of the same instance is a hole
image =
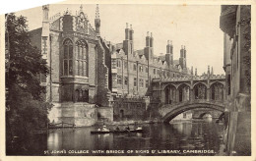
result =
[[[162,122],[169,122],[188,110],[200,109],[202,113],[215,110],[223,113],[224,85],[224,75],[153,79],[152,96],[160,100],[159,114]]]

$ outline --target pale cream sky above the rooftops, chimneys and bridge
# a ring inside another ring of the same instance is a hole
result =
[[[73,15],[81,4],[50,5],[49,17],[70,10]],[[96,4],[84,4],[84,12],[95,27]],[[224,74],[224,32],[220,29],[220,5],[132,5],[100,4],[100,35],[112,43],[124,40],[126,23],[134,29],[134,48],[143,49],[147,31],[153,32],[154,53],[166,53],[167,40],[172,40],[173,57],[179,58],[181,45],[186,46],[188,68],[197,68],[198,75],[207,72]],[[16,12],[28,18],[30,29],[41,27],[42,9]]]

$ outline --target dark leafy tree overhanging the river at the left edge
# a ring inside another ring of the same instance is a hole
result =
[[[40,51],[32,46],[27,19],[6,15],[6,133],[7,149],[14,135],[26,140],[32,131],[47,123],[51,105],[43,101],[45,87],[39,75],[47,75],[48,67]],[[46,126],[45,126],[46,127]],[[28,142],[22,142],[25,146]]]

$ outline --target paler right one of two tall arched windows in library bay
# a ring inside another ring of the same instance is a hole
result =
[[[77,76],[88,77],[88,46],[86,41],[80,40],[76,43],[77,51]]]

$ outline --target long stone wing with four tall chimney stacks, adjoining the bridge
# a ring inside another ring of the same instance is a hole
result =
[[[156,56],[153,33],[147,33],[145,47],[140,50],[134,49],[133,37],[132,25],[126,24],[123,42],[111,45],[111,103],[115,120],[149,117],[152,79],[190,75],[185,46],[181,46],[179,60],[173,60],[171,41],[167,41],[166,54]]]

